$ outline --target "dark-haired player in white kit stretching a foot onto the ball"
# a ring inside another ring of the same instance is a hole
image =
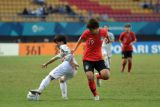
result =
[[[40,95],[42,91],[50,84],[52,80],[60,80],[60,89],[62,92],[62,98],[68,99],[67,96],[67,80],[74,77],[79,67],[75,58],[71,54],[70,49],[66,45],[66,38],[64,36],[56,36],[54,39],[55,43],[59,47],[59,54],[51,58],[48,62],[42,65],[42,68],[46,68],[49,64],[54,61],[61,59],[62,63],[54,68],[41,82],[40,86],[36,90],[30,92],[34,95]]]

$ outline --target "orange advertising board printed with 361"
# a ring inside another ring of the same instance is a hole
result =
[[[75,43],[67,44],[70,49],[73,49]],[[84,44],[81,44],[79,49],[75,54],[83,54]],[[19,55],[28,56],[28,55],[55,55],[58,53],[58,48],[54,43],[20,43],[19,44]]]

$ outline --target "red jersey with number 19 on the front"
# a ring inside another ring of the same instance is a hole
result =
[[[85,30],[81,38],[86,41],[86,47],[83,54],[83,60],[99,61],[102,60],[102,42],[107,37],[105,29],[99,29],[98,34],[92,34],[90,30]]]

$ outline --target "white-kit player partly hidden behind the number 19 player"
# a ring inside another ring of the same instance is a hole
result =
[[[104,26],[104,29],[107,30],[109,29],[108,26]],[[114,42],[114,35],[111,32],[108,32],[108,37],[110,42],[107,43],[106,40],[103,41],[102,44],[102,55],[106,64],[106,67],[110,69],[110,64],[111,64],[111,56],[112,56],[112,42]]]

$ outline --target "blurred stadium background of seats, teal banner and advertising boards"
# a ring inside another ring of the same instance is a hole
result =
[[[1,0],[0,55],[52,55],[57,34],[72,48],[90,18],[109,25],[116,41],[129,22],[138,38],[134,52],[160,53],[160,0]],[[113,53],[120,53],[118,42]]]

